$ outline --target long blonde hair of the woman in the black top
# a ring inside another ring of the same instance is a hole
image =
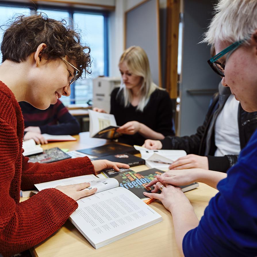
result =
[[[119,64],[121,64],[122,62],[126,62],[126,65],[128,66],[131,74],[142,77],[143,82],[140,87],[141,97],[139,104],[137,106],[137,110],[143,112],[143,109],[149,101],[151,93],[153,93],[155,89],[158,88],[152,82],[148,57],[141,47],[131,46],[122,53]],[[131,89],[127,89],[123,81],[121,81],[121,86],[117,94],[117,97],[119,93],[122,91],[122,89],[124,97],[124,106],[127,107],[132,101],[132,91]]]

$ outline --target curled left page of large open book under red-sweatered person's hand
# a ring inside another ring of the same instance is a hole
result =
[[[99,179],[93,174],[89,175],[84,175],[84,176],[78,176],[78,177],[72,177],[72,178],[67,178],[67,179],[59,179],[59,180],[54,180],[54,181],[49,181],[49,182],[44,182],[44,183],[39,183],[35,184],[35,187],[39,191],[46,189],[46,188],[55,188],[57,186],[66,186],[66,185],[74,185],[78,183],[84,183],[84,182],[89,182],[90,187],[84,189],[92,189],[94,187],[97,188],[97,193],[108,190],[113,187],[118,187],[119,183],[116,179],[113,178],[107,178],[107,179]]]

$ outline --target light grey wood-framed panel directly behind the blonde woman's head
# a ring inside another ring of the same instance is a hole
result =
[[[149,0],[127,12],[126,48],[138,45],[145,50],[149,58],[152,79],[159,85],[157,14],[156,0]]]

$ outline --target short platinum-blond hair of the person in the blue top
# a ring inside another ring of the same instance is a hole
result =
[[[233,43],[250,39],[257,29],[256,0],[220,0],[214,10],[204,43],[214,45],[216,40]]]

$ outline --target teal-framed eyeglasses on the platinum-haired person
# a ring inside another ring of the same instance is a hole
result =
[[[211,66],[212,70],[214,70],[214,72],[216,72],[218,75],[225,77],[224,75],[225,64],[217,62],[217,60],[223,55],[225,55],[226,53],[228,53],[229,51],[233,53],[233,51],[235,51],[244,41],[246,41],[246,39],[237,41],[232,45],[228,46],[227,48],[223,49],[218,54],[214,55],[212,58],[210,58],[208,60],[208,64]],[[229,55],[231,55],[231,53],[229,53]],[[226,60],[228,59],[229,55],[227,56]]]

